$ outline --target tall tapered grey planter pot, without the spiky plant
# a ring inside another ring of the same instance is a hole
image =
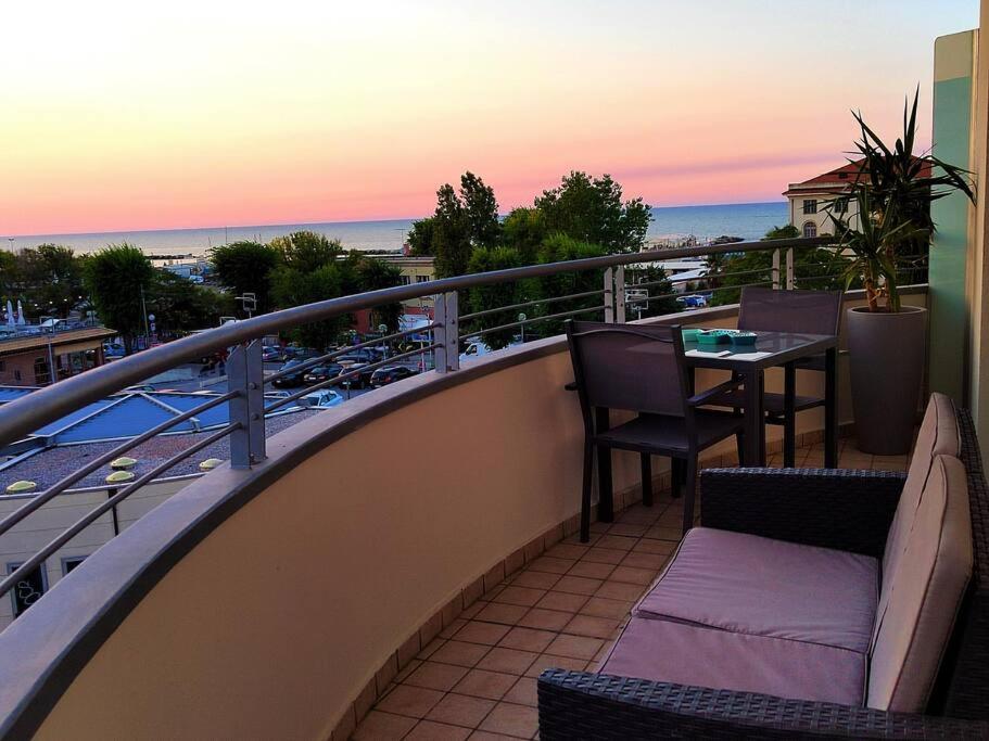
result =
[[[848,310],[851,397],[859,449],[876,456],[910,452],[927,349],[927,309],[899,314]]]

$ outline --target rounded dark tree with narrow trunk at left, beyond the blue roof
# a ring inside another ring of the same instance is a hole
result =
[[[134,337],[143,330],[142,296],[154,278],[151,260],[126,242],[110,245],[86,259],[86,291],[103,323],[119,332],[127,355],[134,348]]]

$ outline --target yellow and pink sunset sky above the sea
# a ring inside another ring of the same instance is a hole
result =
[[[503,210],[570,169],[778,200],[895,135],[976,0],[4,3],[0,235]]]

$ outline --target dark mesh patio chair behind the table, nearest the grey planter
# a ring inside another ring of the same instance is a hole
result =
[[[741,290],[738,329],[747,332],[793,332],[798,334],[837,335],[841,322],[840,291],[777,291],[759,286]],[[797,412],[823,407],[819,396],[797,396],[797,369],[824,372],[824,356],[801,358],[784,370],[783,394],[763,394],[762,405],[768,424],[783,425],[783,464],[793,468],[797,451]],[[786,413],[786,394],[794,395],[793,413]],[[714,406],[745,407],[744,394],[731,389],[711,401]]]

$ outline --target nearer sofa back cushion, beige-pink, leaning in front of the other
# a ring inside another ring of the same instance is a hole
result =
[[[897,566],[883,585],[886,611],[868,669],[867,705],[921,713],[972,575],[965,467],[936,456]]]

